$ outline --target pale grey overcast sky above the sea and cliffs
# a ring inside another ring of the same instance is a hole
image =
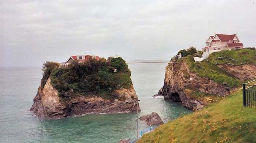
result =
[[[254,0],[0,0],[0,66],[41,66],[70,55],[170,60],[234,34],[256,47]]]

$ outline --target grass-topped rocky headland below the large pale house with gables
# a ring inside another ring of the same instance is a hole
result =
[[[165,100],[181,102],[188,109],[202,109],[230,94],[243,81],[256,77],[254,49],[213,52],[201,62],[195,62],[193,57],[202,53],[186,51],[189,50],[194,52],[171,60],[174,63],[166,67],[164,85],[158,92]]]

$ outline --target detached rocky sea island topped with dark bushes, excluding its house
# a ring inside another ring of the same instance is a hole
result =
[[[122,58],[77,60],[69,67],[45,62],[43,78],[30,109],[39,119],[88,113],[136,112],[137,95]]]

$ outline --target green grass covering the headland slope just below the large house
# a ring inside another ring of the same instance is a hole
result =
[[[200,77],[209,78],[219,84],[227,83],[226,86],[235,88],[241,86],[242,82],[230,75],[217,65],[228,64],[230,66],[243,65],[245,63],[256,64],[256,50],[238,49],[232,51],[213,52],[202,62],[195,62],[193,55],[184,57],[189,69]]]

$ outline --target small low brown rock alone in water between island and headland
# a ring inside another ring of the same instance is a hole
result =
[[[162,119],[156,112],[152,112],[149,115],[143,115],[139,118],[142,121],[146,121],[147,125],[161,125],[163,124]]]

